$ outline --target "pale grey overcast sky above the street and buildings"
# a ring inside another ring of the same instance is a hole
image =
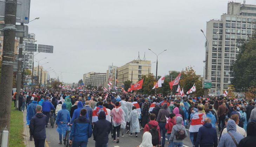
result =
[[[235,1],[235,0],[234,0]],[[243,0],[236,0],[243,2]],[[62,73],[63,82],[78,82],[83,73],[106,72],[138,56],[156,61],[158,75],[195,66],[203,75],[206,21],[227,13],[227,0],[31,0],[29,33],[38,44],[53,45],[39,53],[45,69]],[[247,4],[256,4],[247,0]],[[35,65],[37,66],[37,65]],[[152,64],[155,74],[156,64]],[[51,77],[56,77],[51,73]]]

